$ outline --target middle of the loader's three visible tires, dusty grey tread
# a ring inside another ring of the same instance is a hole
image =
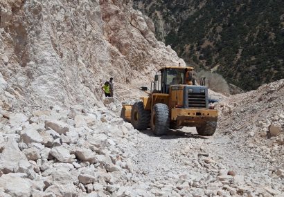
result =
[[[166,104],[154,104],[151,114],[151,128],[154,135],[165,135],[170,126],[170,116]]]

